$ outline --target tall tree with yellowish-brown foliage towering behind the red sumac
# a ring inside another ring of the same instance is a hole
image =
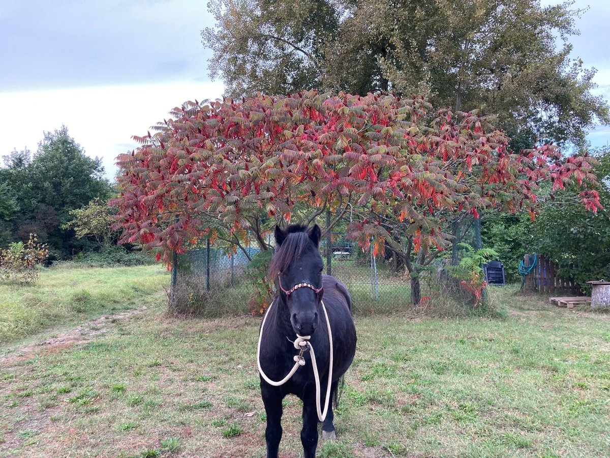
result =
[[[210,76],[229,95],[306,89],[418,93],[497,115],[514,148],[582,146],[610,122],[595,70],[571,59],[582,11],[536,0],[215,0]],[[559,48],[556,42],[559,40]]]

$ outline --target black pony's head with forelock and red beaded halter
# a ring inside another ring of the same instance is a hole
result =
[[[312,335],[320,322],[318,304],[322,299],[320,227],[290,225],[275,227],[276,252],[270,275],[290,312],[290,324],[298,335]]]

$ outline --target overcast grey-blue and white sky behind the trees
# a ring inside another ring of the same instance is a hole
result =
[[[587,5],[573,57],[597,68],[596,93],[609,100],[610,1],[575,2]],[[207,77],[206,26],[206,0],[0,0],[0,155],[35,151],[43,131],[65,124],[112,176],[132,135],[186,100],[222,95]],[[605,145],[610,128],[589,140]]]

